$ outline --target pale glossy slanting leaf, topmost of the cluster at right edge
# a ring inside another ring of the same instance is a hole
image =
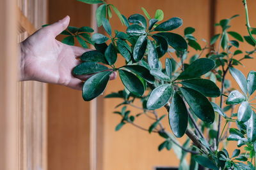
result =
[[[246,95],[247,94],[247,81],[246,81],[246,78],[244,77],[244,74],[234,67],[230,67],[229,71],[230,71],[230,74],[233,76],[233,78],[236,80],[236,82],[239,85],[239,87],[241,88],[241,90]]]

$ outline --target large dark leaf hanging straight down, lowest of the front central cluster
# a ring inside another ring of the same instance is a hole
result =
[[[188,127],[188,111],[186,104],[177,92],[174,93],[169,110],[169,124],[173,134],[181,138]]]

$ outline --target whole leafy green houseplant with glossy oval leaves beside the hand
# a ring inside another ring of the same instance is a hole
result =
[[[255,30],[250,28],[246,1],[243,2],[250,36],[242,37],[230,31],[229,24],[237,17],[234,15],[216,24],[222,31],[205,42],[204,48],[197,43],[192,27],[184,29],[182,36],[170,32],[182,25],[182,19],[174,17],[161,22],[161,10],[156,11],[154,18],[144,8],[145,17],[134,14],[126,18],[113,4],[102,0],[80,1],[100,4],[96,12],[97,25],[104,27],[108,36],[95,33],[91,37],[93,29],[90,27],[68,27],[61,33],[67,35],[63,43],[74,45],[74,39],[77,39],[84,48],[88,44],[95,46],[95,51],[80,57],[82,63],[73,70],[76,75],[94,74],[84,83],[85,101],[102,94],[109,75],[113,71],[118,72],[124,90],[106,96],[124,99],[118,104],[121,110],[115,111],[121,117],[116,131],[125,124],[131,124],[159,134],[163,138],[159,150],[176,148],[180,169],[188,169],[184,160],[188,153],[192,155],[190,169],[196,169],[198,164],[211,169],[255,169],[256,115],[252,96],[256,89],[256,72],[248,73],[246,80],[243,73],[236,69],[244,59],[252,59],[255,53],[256,41],[252,36]],[[127,26],[126,32],[111,28],[109,20],[113,12]],[[253,46],[252,50],[239,50],[239,43],[244,41]],[[194,48],[198,55],[189,56],[188,48]],[[203,56],[205,50],[209,53]],[[237,55],[241,53],[245,55],[238,59]],[[124,66],[115,67],[118,57],[124,57]],[[159,61],[161,57],[166,58],[163,63]],[[232,74],[241,90],[230,87],[227,73]],[[220,88],[216,85],[218,81]],[[220,98],[220,104],[214,102],[215,97]],[[127,110],[127,106],[138,108],[134,106],[135,99],[141,101],[140,114]],[[224,102],[227,104],[225,107]],[[236,105],[238,113],[233,113]],[[156,110],[162,107],[166,108],[168,116],[159,117]],[[228,110],[232,115],[225,113]],[[141,114],[147,114],[154,119],[154,123],[148,128],[137,125],[136,119]],[[172,132],[161,124],[164,118],[169,118]],[[223,129],[220,127],[221,119],[225,121]],[[229,124],[236,124],[237,128],[228,128]],[[209,138],[206,138],[208,133]],[[188,140],[180,145],[176,138],[184,135],[188,136]],[[232,155],[220,148],[219,144],[227,141],[237,141],[237,149]]]

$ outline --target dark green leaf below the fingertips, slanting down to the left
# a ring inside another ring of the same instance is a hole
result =
[[[83,85],[84,101],[91,101],[104,92],[109,81],[111,71],[104,71],[91,76]]]

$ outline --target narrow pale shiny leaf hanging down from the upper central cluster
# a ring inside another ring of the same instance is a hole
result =
[[[159,68],[159,60],[158,60],[158,55],[156,51],[156,47],[152,43],[150,39],[148,39],[148,65],[150,66],[151,69],[158,69]]]

